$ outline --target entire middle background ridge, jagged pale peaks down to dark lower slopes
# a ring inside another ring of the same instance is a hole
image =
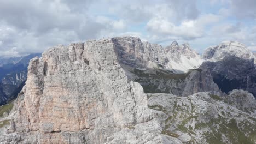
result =
[[[209,71],[194,69],[202,59],[188,44],[179,46],[173,41],[170,46],[163,48],[157,44],[143,43],[134,37],[115,37],[112,40],[121,67],[129,80],[143,86],[144,92],[180,96],[196,92],[222,95]]]

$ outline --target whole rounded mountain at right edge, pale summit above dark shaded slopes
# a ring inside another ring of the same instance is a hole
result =
[[[234,89],[243,89],[256,94],[256,67],[253,53],[236,41],[224,41],[206,49],[206,61],[199,69],[211,71],[213,81],[222,92],[228,94]]]

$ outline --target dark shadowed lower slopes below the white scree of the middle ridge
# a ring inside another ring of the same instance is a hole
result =
[[[213,82],[210,71],[191,69],[188,73],[173,74],[166,69],[136,69],[121,64],[130,80],[140,83],[145,93],[171,93],[185,96],[197,92],[223,95]]]

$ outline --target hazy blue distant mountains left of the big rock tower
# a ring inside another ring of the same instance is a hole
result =
[[[0,106],[17,97],[27,79],[28,63],[36,56],[41,54],[0,58]]]

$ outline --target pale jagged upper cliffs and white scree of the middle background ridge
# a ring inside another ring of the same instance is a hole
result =
[[[114,37],[112,41],[120,63],[131,67],[154,68],[160,64],[173,73],[185,73],[198,68],[203,62],[188,44],[179,46],[176,41],[167,47],[142,42],[136,37]]]

